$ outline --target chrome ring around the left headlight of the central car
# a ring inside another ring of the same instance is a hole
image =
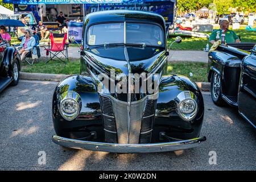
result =
[[[67,102],[68,100],[71,100],[76,104],[77,109],[73,113],[67,113],[63,109],[64,102]],[[61,94],[59,98],[59,112],[64,119],[66,119],[67,121],[72,121],[79,115],[80,110],[81,110],[81,97],[79,96],[78,93],[76,93],[75,91],[68,91]]]

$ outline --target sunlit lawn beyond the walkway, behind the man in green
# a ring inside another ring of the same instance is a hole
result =
[[[230,28],[232,29],[232,28]],[[256,33],[254,31],[245,30],[245,27],[240,28],[239,30],[234,30],[238,36],[241,36],[241,42],[256,42]],[[206,32],[210,35],[210,32]],[[173,42],[176,36],[181,36],[182,41],[179,44],[172,44],[172,50],[193,50],[201,51],[208,43],[208,38],[196,38],[186,35],[171,35],[167,40],[168,45]]]

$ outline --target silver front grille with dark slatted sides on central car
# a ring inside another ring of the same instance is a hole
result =
[[[144,97],[129,104],[100,95],[105,140],[109,143],[150,143],[156,100]]]

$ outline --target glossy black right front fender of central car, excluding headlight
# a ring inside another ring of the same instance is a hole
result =
[[[179,93],[188,90],[195,94],[198,111],[192,121],[184,121],[177,113],[176,97]],[[172,138],[189,139],[200,135],[204,118],[204,101],[200,89],[184,76],[163,77],[159,85],[159,97],[156,104],[155,129],[165,131]]]

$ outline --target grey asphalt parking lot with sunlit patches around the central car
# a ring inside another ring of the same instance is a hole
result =
[[[256,131],[235,109],[217,107],[204,93],[201,135],[184,151],[112,154],[64,149],[51,141],[51,100],[56,82],[20,80],[0,94],[0,170],[256,170]],[[39,164],[39,151],[46,164]],[[217,154],[209,164],[209,152]]]

